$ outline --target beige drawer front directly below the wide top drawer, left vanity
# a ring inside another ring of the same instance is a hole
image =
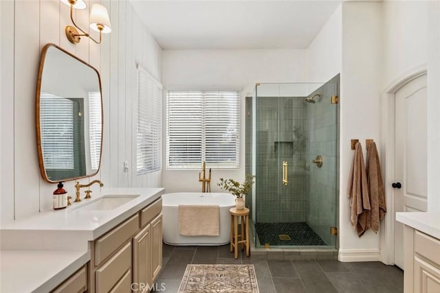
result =
[[[127,272],[129,277],[126,277]],[[109,292],[122,277],[131,279],[131,242],[96,270],[96,292]]]

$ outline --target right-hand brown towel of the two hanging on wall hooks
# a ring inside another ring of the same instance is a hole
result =
[[[385,189],[382,181],[379,154],[376,144],[370,143],[366,149],[366,178],[369,182],[369,194],[371,204],[371,229],[379,231],[380,220],[386,213]]]

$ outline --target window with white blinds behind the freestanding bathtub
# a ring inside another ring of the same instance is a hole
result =
[[[168,91],[166,167],[239,167],[238,91]]]

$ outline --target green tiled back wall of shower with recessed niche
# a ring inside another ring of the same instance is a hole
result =
[[[278,104],[279,100],[279,104]],[[303,97],[257,98],[257,222],[305,222],[307,120]],[[278,119],[279,116],[279,119]],[[289,163],[289,185],[282,164]]]

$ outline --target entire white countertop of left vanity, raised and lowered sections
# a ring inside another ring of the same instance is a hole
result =
[[[89,242],[162,196],[163,188],[102,189],[90,200],[1,223],[0,292],[49,292],[90,259]],[[87,209],[103,197],[135,196],[119,207]]]

